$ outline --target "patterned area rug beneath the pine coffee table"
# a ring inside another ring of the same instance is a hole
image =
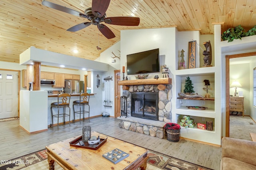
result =
[[[147,170],[212,170],[165,154],[148,150]],[[57,163],[55,170],[63,170]],[[0,170],[46,170],[48,161],[46,149],[12,160],[2,160]],[[139,170],[139,169],[138,169]]]

